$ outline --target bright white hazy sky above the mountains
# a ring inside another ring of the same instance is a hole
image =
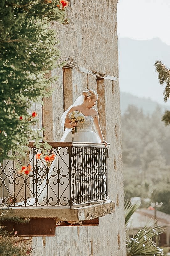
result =
[[[170,0],[119,0],[117,20],[120,38],[159,37],[170,45]]]

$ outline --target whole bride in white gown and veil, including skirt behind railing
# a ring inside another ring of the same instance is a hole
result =
[[[100,128],[99,115],[96,109],[98,94],[93,90],[83,91],[76,101],[63,113],[61,125],[65,127],[61,141],[71,142],[71,130],[77,127],[78,134],[74,134],[76,142],[92,142],[104,143],[107,146],[107,141],[104,140],[103,133]],[[72,111],[79,111],[84,115],[83,123],[71,122],[69,114]],[[92,126],[96,132],[92,131]],[[65,154],[66,148],[58,149],[58,157],[55,157],[52,162],[48,174],[43,175],[43,182],[40,185],[40,191],[33,197],[28,197],[26,201],[17,203],[18,205],[67,205],[69,201],[69,173],[68,173],[68,154]],[[62,157],[58,160],[59,156]],[[57,156],[57,155],[56,155]],[[37,164],[39,165],[39,163]],[[40,164],[41,165],[41,164]],[[41,170],[41,168],[40,168]],[[62,172],[62,174],[61,174]],[[41,172],[40,172],[41,173]],[[65,180],[62,180],[63,177]],[[64,186],[62,186],[64,185]],[[37,202],[37,203],[36,203]]]

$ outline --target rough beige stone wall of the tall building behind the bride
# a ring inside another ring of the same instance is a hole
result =
[[[101,217],[99,226],[57,227],[55,237],[33,237],[33,253],[37,256],[126,255],[116,10],[117,0],[70,0],[69,24],[52,23],[66,66],[52,72],[59,79],[43,107],[45,138],[59,141],[64,108],[84,89],[98,92],[100,124],[110,143],[108,191],[115,202],[115,213]]]

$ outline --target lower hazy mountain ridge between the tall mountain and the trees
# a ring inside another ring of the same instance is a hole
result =
[[[161,105],[149,98],[139,98],[131,93],[120,92],[121,115],[124,114],[129,105],[135,105],[138,109],[143,109],[143,113],[145,115],[151,115],[157,106],[159,106],[162,113],[164,113],[165,110],[170,110],[170,106],[168,104]]]

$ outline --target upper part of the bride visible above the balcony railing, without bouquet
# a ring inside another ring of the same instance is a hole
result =
[[[107,141],[104,140],[100,128],[99,114],[97,110],[93,108],[96,106],[97,99],[98,94],[95,91],[84,91],[74,104],[64,112],[61,125],[67,129],[64,131],[61,141],[72,141],[70,129],[77,126],[78,134],[74,134],[74,141],[104,143],[105,146],[107,146]],[[85,116],[83,123],[70,121],[68,115],[74,110],[81,112]],[[92,125],[94,126],[96,133],[92,131]]]

